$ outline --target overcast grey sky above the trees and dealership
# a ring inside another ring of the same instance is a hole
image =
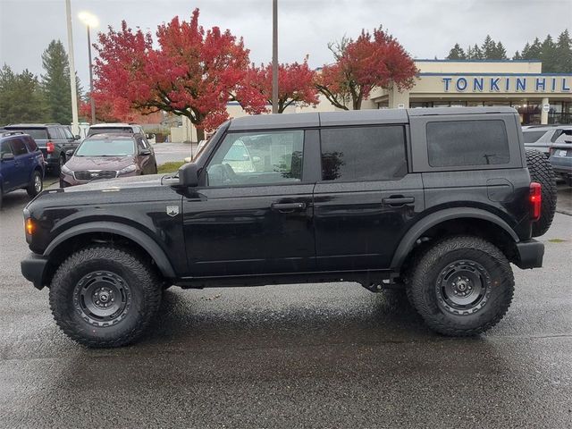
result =
[[[199,22],[219,26],[244,37],[250,60],[272,58],[272,0],[71,0],[76,69],[88,86],[86,29],[80,11],[95,13],[99,29],[149,29],[173,16],[189,20],[200,9]],[[362,28],[389,30],[415,58],[443,58],[453,44],[482,43],[490,34],[509,56],[526,41],[556,38],[572,30],[572,0],[279,0],[279,61],[301,61],[312,67],[332,61],[327,43],[344,35],[356,37]],[[0,63],[14,71],[42,72],[43,50],[59,38],[67,48],[64,0],[0,0]]]

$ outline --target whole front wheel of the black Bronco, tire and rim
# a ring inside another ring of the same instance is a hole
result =
[[[161,300],[156,273],[122,248],[93,246],[71,255],[50,286],[55,321],[88,347],[120,347],[136,341]]]

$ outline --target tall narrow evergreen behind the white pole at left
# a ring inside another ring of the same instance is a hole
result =
[[[51,122],[71,123],[70,68],[68,55],[60,40],[52,40],[42,54],[42,65],[46,74],[42,74],[42,88],[46,95]],[[78,100],[80,99],[80,81],[76,75]]]

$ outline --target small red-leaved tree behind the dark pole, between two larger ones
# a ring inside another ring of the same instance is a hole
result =
[[[282,114],[289,105],[317,105],[318,91],[314,84],[315,71],[307,65],[307,58],[303,63],[280,64],[278,66],[278,113]],[[247,85],[257,88],[265,97],[268,104],[272,104],[272,63],[254,64],[248,71]]]

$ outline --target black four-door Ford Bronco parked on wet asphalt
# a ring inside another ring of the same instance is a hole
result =
[[[426,324],[497,324],[543,264],[556,203],[512,108],[366,110],[225,122],[173,176],[46,190],[24,209],[23,275],[91,347],[128,344],[171,285],[402,288]]]

